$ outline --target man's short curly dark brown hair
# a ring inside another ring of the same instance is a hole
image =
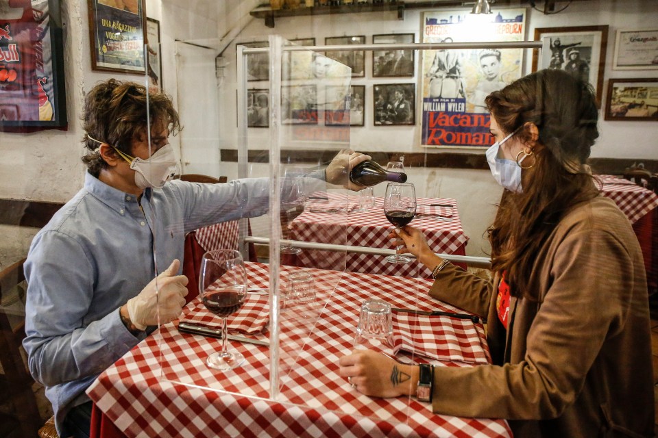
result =
[[[147,118],[147,112],[149,118]],[[176,135],[182,127],[171,99],[161,92],[148,92],[135,82],[108,79],[97,83],[84,99],[82,126],[85,134],[82,142],[90,153],[82,157],[89,172],[97,177],[108,164],[101,157],[98,142],[110,144],[119,151],[132,155],[132,141],[143,140],[157,123],[169,128]]]

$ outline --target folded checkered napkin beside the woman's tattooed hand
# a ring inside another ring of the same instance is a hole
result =
[[[393,312],[393,354],[404,350],[439,361],[489,363],[472,320]]]

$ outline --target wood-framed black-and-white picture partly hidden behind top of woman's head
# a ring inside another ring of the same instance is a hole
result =
[[[596,107],[601,107],[607,26],[543,27],[535,29],[535,40],[550,38],[550,51],[533,51],[533,71],[557,68],[592,84],[596,90]]]

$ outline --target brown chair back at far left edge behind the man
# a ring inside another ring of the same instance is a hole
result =
[[[34,379],[23,360],[21,342],[25,338],[25,259],[0,272],[0,402],[12,402],[12,415],[21,424],[23,437],[36,437],[41,420],[36,397],[32,391]]]

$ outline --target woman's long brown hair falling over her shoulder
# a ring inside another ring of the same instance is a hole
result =
[[[562,70],[540,70],[485,99],[505,133],[531,140],[525,125],[539,129],[536,161],[524,170],[522,193],[506,193],[489,229],[493,270],[507,272],[511,294],[539,300],[535,258],[565,213],[598,195],[585,162],[598,138],[596,101],[589,84]],[[532,163],[533,157],[526,162]],[[524,163],[526,163],[524,162]]]

